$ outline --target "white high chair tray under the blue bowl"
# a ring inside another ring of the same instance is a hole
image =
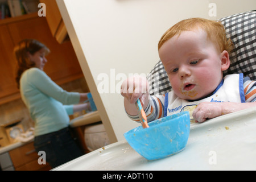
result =
[[[256,108],[193,123],[185,150],[148,161],[119,141],[52,170],[255,170]]]

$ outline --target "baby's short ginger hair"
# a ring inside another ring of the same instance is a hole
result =
[[[176,23],[163,34],[158,43],[158,50],[173,36],[180,35],[183,31],[193,31],[196,29],[205,31],[207,38],[214,43],[218,51],[226,50],[229,54],[233,51],[233,43],[230,39],[226,38],[226,31],[221,22],[203,18],[190,18]]]

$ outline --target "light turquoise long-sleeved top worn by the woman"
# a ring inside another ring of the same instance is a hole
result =
[[[20,94],[35,121],[35,136],[52,133],[69,125],[68,115],[78,104],[80,94],[67,92],[45,72],[30,68],[20,78]]]

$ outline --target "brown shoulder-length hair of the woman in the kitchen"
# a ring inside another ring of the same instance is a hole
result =
[[[24,39],[14,47],[14,55],[18,65],[18,70],[16,72],[16,83],[18,84],[18,88],[22,73],[29,68],[35,67],[35,63],[29,59],[28,53],[34,55],[35,52],[40,51],[42,48],[46,51],[46,54],[50,52],[44,44],[35,39]]]

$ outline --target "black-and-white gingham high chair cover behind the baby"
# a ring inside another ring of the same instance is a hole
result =
[[[230,54],[230,67],[224,75],[243,73],[256,80],[256,11],[235,14],[220,19],[226,29],[227,37],[234,43]],[[147,76],[150,94],[165,94],[171,91],[171,84],[161,61]]]

